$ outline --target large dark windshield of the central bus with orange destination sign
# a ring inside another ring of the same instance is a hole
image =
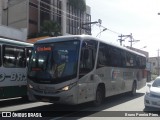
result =
[[[80,41],[34,46],[28,78],[36,83],[61,83],[77,76]]]

